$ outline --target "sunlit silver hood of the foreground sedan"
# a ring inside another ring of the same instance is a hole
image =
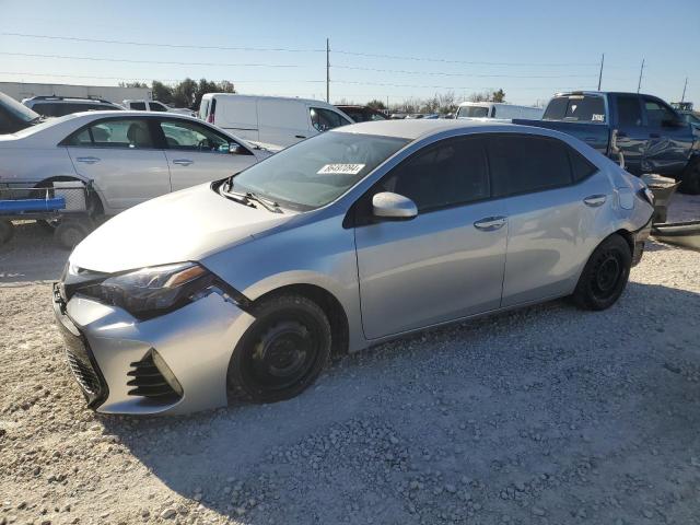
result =
[[[149,200],[109,219],[75,247],[69,260],[106,273],[201,260],[294,214],[241,205],[205,184]]]

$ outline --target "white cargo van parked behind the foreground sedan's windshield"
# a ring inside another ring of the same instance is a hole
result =
[[[230,93],[202,96],[199,118],[243,139],[283,148],[352,124],[348,115],[322,101]]]

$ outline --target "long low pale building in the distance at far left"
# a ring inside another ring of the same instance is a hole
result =
[[[126,98],[151,100],[150,88],[120,88],[117,85],[38,84],[31,82],[0,82],[0,92],[20,102],[37,95],[104,98],[121,104]]]

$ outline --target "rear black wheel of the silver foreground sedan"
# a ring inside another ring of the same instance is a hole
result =
[[[630,245],[617,233],[603,241],[588,257],[572,299],[583,310],[605,310],[620,298],[630,278]]]

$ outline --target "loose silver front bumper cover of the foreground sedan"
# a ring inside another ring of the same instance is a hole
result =
[[[254,318],[218,293],[149,320],[54,289],[68,361],[104,413],[186,413],[225,406],[231,354]],[[96,386],[95,386],[96,385]]]

